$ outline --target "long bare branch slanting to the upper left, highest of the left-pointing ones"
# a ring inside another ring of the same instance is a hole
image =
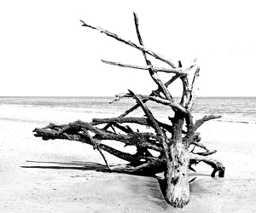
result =
[[[95,29],[95,30],[97,30],[97,31],[99,31],[99,32],[103,32],[103,33],[105,33],[107,36],[113,37],[113,38],[117,39],[119,42],[128,44],[128,45],[130,45],[131,47],[136,48],[136,49],[139,49],[139,50],[141,50],[141,51],[145,51],[147,54],[152,55],[154,58],[166,62],[166,64],[172,66],[172,68],[176,68],[176,66],[173,64],[172,60],[166,59],[164,56],[162,56],[162,55],[160,55],[160,54],[157,54],[157,53],[155,53],[155,52],[153,52],[153,51],[151,51],[151,50],[149,50],[149,49],[144,48],[142,45],[139,45],[139,44],[137,44],[137,43],[133,43],[133,42],[131,42],[130,40],[125,40],[124,38],[119,37],[117,34],[115,34],[115,33],[113,33],[113,32],[108,32],[108,31],[102,29],[102,28],[99,27],[99,26],[91,26],[91,25],[85,23],[84,20],[80,20],[80,21],[83,23],[82,26],[88,26],[88,27],[90,27],[90,28],[92,28],[92,29]]]

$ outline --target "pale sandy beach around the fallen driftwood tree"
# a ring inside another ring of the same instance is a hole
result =
[[[52,121],[54,112],[40,118],[31,109],[8,113],[0,112],[0,212],[256,211],[256,124],[210,121],[201,127],[205,144],[218,150],[212,157],[225,165],[225,177],[211,178],[209,166],[197,165],[190,202],[179,210],[166,204],[155,178],[99,172],[102,157],[90,146],[34,137],[32,130]],[[77,119],[62,116],[63,122]]]

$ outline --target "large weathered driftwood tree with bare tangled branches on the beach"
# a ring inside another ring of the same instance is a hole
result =
[[[149,75],[154,80],[154,83],[157,84],[158,89],[152,91],[150,95],[136,95],[131,90],[126,94],[116,95],[114,101],[119,101],[121,98],[133,98],[137,101],[134,107],[128,109],[118,118],[94,118],[90,123],[76,121],[64,125],[49,124],[44,128],[35,129],[35,136],[42,137],[43,140],[64,139],[90,144],[102,154],[108,171],[148,176],[154,176],[156,173],[164,171],[165,179],[161,188],[163,188],[162,192],[166,198],[166,202],[174,207],[183,208],[183,205],[189,203],[189,170],[194,170],[192,164],[198,164],[202,161],[212,166],[213,171],[211,176],[215,176],[217,171],[219,171],[218,176],[224,176],[224,165],[215,159],[207,157],[217,151],[210,151],[201,144],[200,134],[196,132],[201,124],[214,118],[220,118],[220,116],[209,115],[194,122],[191,111],[198,91],[196,81],[199,77],[200,67],[195,64],[195,61],[187,68],[182,67],[181,61],[178,61],[178,65],[175,66],[172,60],[146,49],[139,32],[137,14],[134,14],[134,21],[139,44],[125,40],[101,27],[90,26],[81,20],[83,23],[82,26],[103,32],[109,37],[117,39],[119,42],[141,50],[146,66],[125,65],[108,60],[102,60],[102,62],[113,66],[148,70]],[[169,68],[153,66],[152,62],[148,60],[147,55],[152,55],[155,59],[162,60]],[[169,81],[163,83],[160,80],[158,72],[167,72],[172,76]],[[191,76],[192,80],[189,81],[189,77]],[[181,79],[183,83],[182,98],[179,103],[175,101],[168,90],[168,86],[177,79]],[[170,124],[161,123],[154,118],[154,115],[146,105],[147,101],[154,101],[170,107],[174,112],[174,117],[169,118]],[[146,118],[127,117],[130,112],[133,112],[138,107],[143,109]],[[105,126],[100,128],[98,127],[100,124],[105,124]],[[124,124],[147,125],[154,129],[154,133],[138,132]],[[93,133],[93,136],[91,133]],[[125,146],[135,146],[137,147],[137,153],[121,152],[117,148],[102,144],[101,141],[104,140],[119,141]],[[192,151],[189,151],[189,147],[191,146],[194,146],[194,148]],[[200,147],[205,152],[195,153],[195,147]],[[102,150],[128,161],[129,164],[110,167]],[[158,152],[159,156],[153,156],[149,152],[150,150]]]

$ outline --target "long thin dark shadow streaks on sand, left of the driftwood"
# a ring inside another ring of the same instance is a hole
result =
[[[27,160],[26,163],[37,165],[22,165],[21,168],[27,169],[54,169],[54,170],[106,170],[107,166],[94,162],[53,162],[53,161],[31,161]]]

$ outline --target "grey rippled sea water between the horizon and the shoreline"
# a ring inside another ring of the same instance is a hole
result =
[[[133,99],[123,99],[113,104],[113,97],[0,97],[0,107],[30,107],[64,112],[107,113],[118,116],[135,104]],[[148,102],[156,118],[167,118],[173,112],[169,107]],[[193,107],[195,118],[219,114],[218,121],[256,124],[256,97],[198,97]],[[143,116],[142,110],[131,116]]]

